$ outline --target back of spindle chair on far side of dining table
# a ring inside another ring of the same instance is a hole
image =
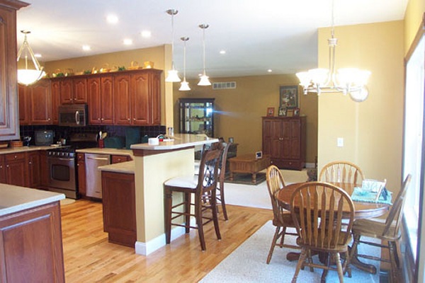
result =
[[[323,166],[319,174],[319,181],[334,183],[351,183],[361,185],[365,175],[361,168],[348,161],[333,161]]]

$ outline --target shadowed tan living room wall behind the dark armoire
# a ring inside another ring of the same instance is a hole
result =
[[[179,98],[215,98],[215,137],[234,137],[238,154],[260,151],[262,146],[261,117],[268,107],[279,108],[279,86],[297,85],[294,74],[211,78],[211,81],[236,81],[237,88],[212,90],[212,86],[197,86],[189,81],[191,91],[179,91],[174,83],[174,127],[179,129]],[[300,113],[307,115],[307,162],[317,156],[317,96],[300,92]]]

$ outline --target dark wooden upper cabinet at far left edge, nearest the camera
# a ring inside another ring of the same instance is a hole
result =
[[[0,140],[19,138],[16,11],[25,6],[0,0]]]

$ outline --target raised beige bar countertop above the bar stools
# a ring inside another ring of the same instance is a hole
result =
[[[214,137],[207,137],[205,134],[174,134],[170,141],[159,141],[159,145],[151,146],[149,144],[132,144],[130,148],[144,150],[172,150],[211,144],[217,141],[218,139]]]

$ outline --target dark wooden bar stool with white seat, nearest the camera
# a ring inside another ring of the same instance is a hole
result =
[[[171,241],[171,226],[181,226],[185,228],[186,233],[189,233],[191,228],[198,229],[200,247],[205,250],[203,226],[210,221],[214,223],[217,239],[221,239],[216,197],[221,154],[222,149],[208,149],[203,152],[198,175],[178,176],[164,182],[164,221],[167,244]],[[173,204],[173,192],[183,192],[183,201]],[[194,195],[194,203],[191,202],[191,195]],[[194,207],[193,212],[191,207]],[[207,211],[211,214],[207,214]],[[182,216],[183,219],[181,219]],[[195,217],[196,226],[191,226],[191,216]]]

